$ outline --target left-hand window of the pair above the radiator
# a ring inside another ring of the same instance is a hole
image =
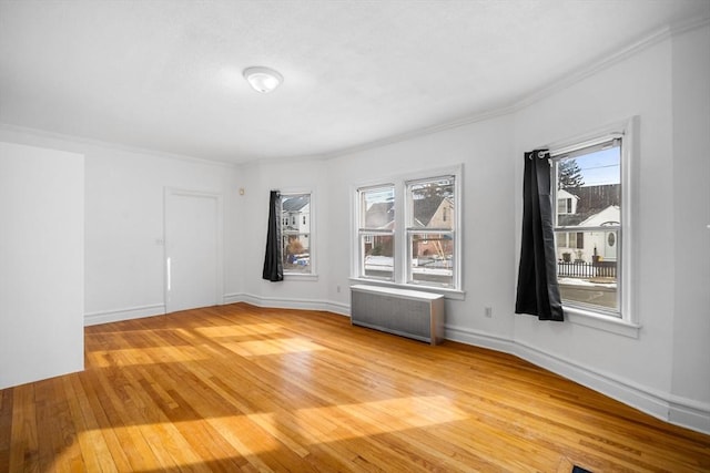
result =
[[[395,187],[358,189],[359,275],[394,280]]]

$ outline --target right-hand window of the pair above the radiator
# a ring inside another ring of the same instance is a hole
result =
[[[454,284],[454,176],[408,182],[407,282]]]

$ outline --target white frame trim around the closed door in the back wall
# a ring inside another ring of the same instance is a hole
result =
[[[168,208],[171,197],[193,197],[193,198],[212,198],[216,205],[216,267],[215,267],[215,301],[219,306],[224,304],[224,203],[222,193],[194,191],[180,187],[164,187],[163,189],[163,300],[165,304],[165,313],[169,312],[169,294],[170,294],[170,255],[169,243],[170,233],[168,230]]]

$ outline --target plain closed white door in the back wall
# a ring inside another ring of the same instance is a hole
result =
[[[219,304],[221,278],[220,198],[168,189],[165,193],[165,309]]]

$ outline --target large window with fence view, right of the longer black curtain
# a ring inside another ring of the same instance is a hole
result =
[[[564,153],[552,151],[552,156],[562,304],[620,317],[621,137],[609,136]]]

